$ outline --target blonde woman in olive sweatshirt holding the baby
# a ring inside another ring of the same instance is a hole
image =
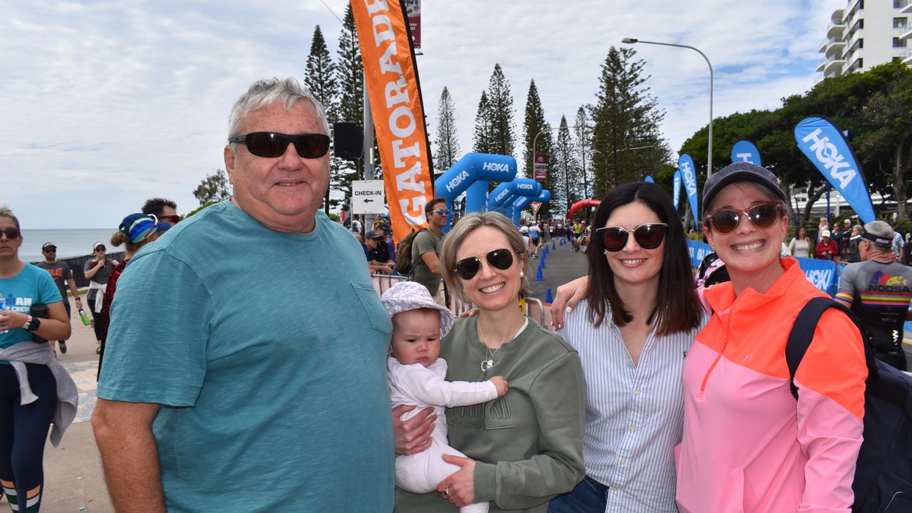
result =
[[[397,512],[490,502],[492,512],[544,513],[548,500],[583,478],[583,369],[573,348],[520,311],[517,300],[529,290],[527,261],[523,237],[501,214],[465,215],[443,239],[440,268],[447,286],[479,310],[456,319],[440,345],[447,380],[499,375],[510,391],[488,403],[447,409],[450,445],[468,457],[444,456],[461,469],[440,482],[439,493],[397,489]],[[399,454],[423,450],[428,435],[422,421],[433,427],[430,412],[401,421],[409,410],[393,410]]]

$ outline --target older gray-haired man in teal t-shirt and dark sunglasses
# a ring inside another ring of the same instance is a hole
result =
[[[317,213],[326,116],[263,80],[229,130],[233,199],[118,281],[92,418],[114,506],[388,513],[392,326],[358,243]]]

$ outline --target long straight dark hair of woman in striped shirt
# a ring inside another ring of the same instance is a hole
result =
[[[656,308],[647,319],[655,324],[657,335],[669,335],[679,331],[693,330],[700,325],[700,299],[693,283],[693,271],[687,249],[684,226],[671,203],[671,198],[655,183],[624,183],[611,190],[596,210],[594,228],[605,226],[615,209],[639,202],[645,204],[668,224],[665,235],[665,254],[662,269],[658,274]],[[625,326],[633,320],[615,288],[615,275],[605,258],[605,243],[600,236],[592,237],[589,246],[589,321],[599,326],[605,320],[608,310],[617,326]]]

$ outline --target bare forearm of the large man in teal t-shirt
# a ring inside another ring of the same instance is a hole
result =
[[[92,430],[105,481],[118,513],[164,513],[158,447],[152,421],[160,404],[122,403],[98,398]]]

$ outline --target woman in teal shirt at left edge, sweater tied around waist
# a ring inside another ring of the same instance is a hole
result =
[[[46,270],[19,259],[19,246],[19,220],[0,206],[0,487],[13,511],[38,511],[47,429],[53,422],[57,446],[78,392],[47,344],[69,338],[63,298]],[[47,307],[42,319],[31,315],[39,304]]]

